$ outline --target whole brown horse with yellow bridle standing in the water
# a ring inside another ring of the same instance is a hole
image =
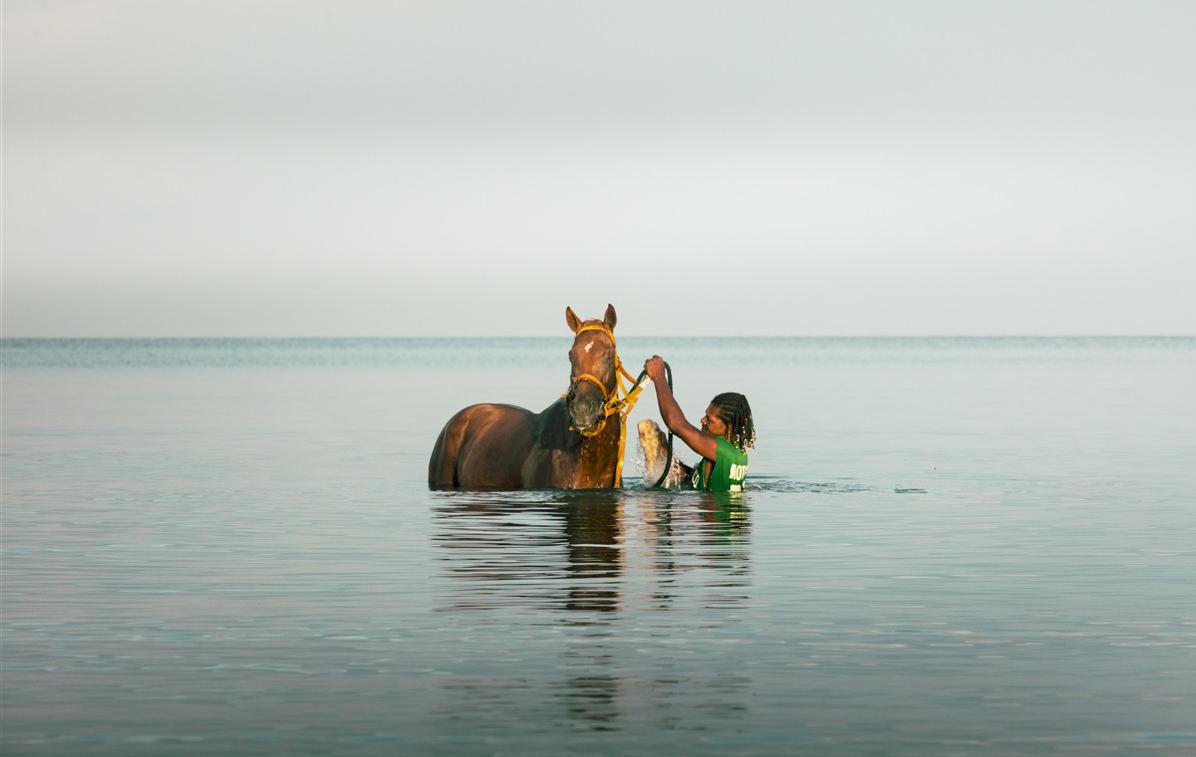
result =
[[[474,404],[448,419],[428,460],[432,489],[599,489],[620,486],[615,307],[581,320],[572,307],[568,393],[541,413],[509,404]]]

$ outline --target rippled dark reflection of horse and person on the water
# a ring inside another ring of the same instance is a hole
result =
[[[646,703],[666,713],[678,689],[695,685],[718,700],[712,716],[745,707],[736,696],[750,677],[697,682],[678,670],[681,658],[701,651],[677,645],[678,659],[654,654],[661,671],[653,674],[634,664],[627,646],[637,637],[667,640],[687,625],[734,623],[731,613],[748,602],[751,580],[751,511],[743,495],[444,493],[434,513],[437,560],[450,579],[439,610],[523,610],[523,622],[509,622],[514,636],[526,623],[554,625],[565,642],[555,663],[538,666],[560,672],[550,690],[568,719],[618,731],[621,719],[642,716]],[[687,616],[681,627],[677,613]],[[451,686],[474,703],[493,704],[500,695],[493,679]]]

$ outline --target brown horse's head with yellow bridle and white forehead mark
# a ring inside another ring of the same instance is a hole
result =
[[[581,320],[572,307],[565,309],[565,322],[574,334],[565,404],[582,434],[598,432],[606,417],[604,405],[615,395],[615,320],[614,305],[606,305],[602,320]]]

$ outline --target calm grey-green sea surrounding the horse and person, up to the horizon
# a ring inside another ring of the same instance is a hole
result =
[[[0,752],[1196,753],[1196,338],[624,338],[743,497],[428,492],[568,346],[5,340]]]

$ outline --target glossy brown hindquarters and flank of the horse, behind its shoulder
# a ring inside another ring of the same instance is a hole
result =
[[[445,423],[428,460],[433,489],[518,489],[531,452],[535,414],[509,404],[482,403]]]

